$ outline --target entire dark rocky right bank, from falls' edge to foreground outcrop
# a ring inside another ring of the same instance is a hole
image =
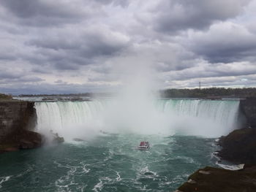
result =
[[[256,98],[241,100],[240,111],[246,118],[244,128],[220,137],[217,155],[234,164],[244,164],[236,171],[206,166],[191,174],[176,192],[255,192],[256,191]]]

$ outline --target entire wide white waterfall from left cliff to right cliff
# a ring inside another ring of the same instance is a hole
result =
[[[120,115],[121,117],[131,115],[130,113],[126,114],[125,109],[123,111],[118,109],[113,115],[114,118],[108,120],[106,117],[108,117],[111,107],[113,108],[115,105],[114,100],[106,101],[103,99],[36,102],[37,130],[39,132],[53,130],[66,135],[72,135],[76,132],[73,137],[80,136],[81,132],[85,130],[87,132],[83,134],[88,134],[88,129],[92,132],[104,130],[104,126],[108,126],[110,121],[118,120]],[[165,126],[165,130],[171,129],[175,133],[219,137],[236,128],[238,108],[239,101],[159,99],[155,101],[153,115],[141,118],[143,118],[143,121],[148,120],[148,129],[156,129],[156,133],[161,133]],[[143,114],[135,115],[136,122],[140,115],[143,116]],[[156,116],[164,116],[165,118],[156,118]],[[122,120],[121,123],[126,126],[129,125],[131,120],[131,118],[128,118],[128,120]],[[109,127],[120,126],[121,123],[112,123]],[[151,124],[154,126],[150,127]],[[136,128],[141,127],[140,123]]]

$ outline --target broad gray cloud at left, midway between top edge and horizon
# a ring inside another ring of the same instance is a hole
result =
[[[37,64],[52,64],[56,69],[76,70],[80,66],[94,64],[97,58],[121,53],[129,47],[129,39],[108,28],[101,28],[101,31],[98,28],[89,28],[76,35],[68,30],[56,31],[31,39],[26,44],[36,47],[36,53],[41,55],[41,62],[37,58],[30,58],[31,62],[34,60]]]

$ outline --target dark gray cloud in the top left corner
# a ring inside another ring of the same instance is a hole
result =
[[[96,1],[2,0],[0,4],[9,13],[4,18],[22,26],[53,27],[105,15]]]

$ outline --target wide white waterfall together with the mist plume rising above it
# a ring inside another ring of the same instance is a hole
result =
[[[129,58],[114,67],[120,87],[111,99],[36,104],[37,129],[72,140],[124,133],[220,137],[236,128],[238,101],[159,99],[152,66]]]

